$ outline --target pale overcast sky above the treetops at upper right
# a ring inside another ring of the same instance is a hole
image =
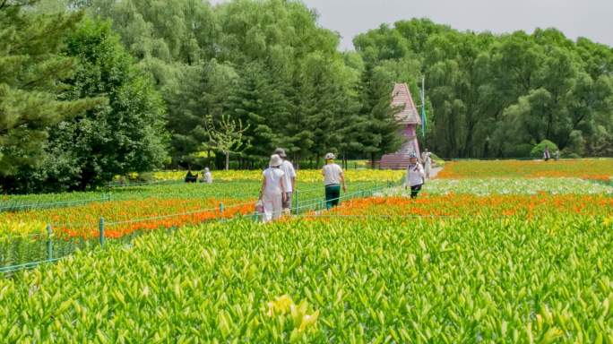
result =
[[[223,0],[212,0],[219,3]],[[458,30],[495,33],[555,27],[571,39],[613,46],[613,0],[303,0],[342,36],[341,49],[381,23],[427,17]]]

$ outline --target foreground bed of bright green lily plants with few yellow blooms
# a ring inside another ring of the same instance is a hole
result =
[[[0,280],[0,336],[608,342],[608,220],[240,220],[156,232]]]

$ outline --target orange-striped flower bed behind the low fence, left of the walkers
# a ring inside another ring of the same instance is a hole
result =
[[[381,189],[381,182],[349,182],[343,197],[361,196],[362,191]],[[26,262],[45,261],[77,248],[96,245],[100,237],[100,220],[104,219],[106,240],[129,241],[134,236],[162,228],[180,228],[204,221],[253,217],[259,181],[216,182],[206,184],[156,184],[118,187],[101,193],[70,193],[72,200],[57,206],[49,195],[29,195],[22,202],[23,211],[0,212],[0,271]],[[92,194],[100,201],[88,200]],[[18,198],[23,198],[19,196]],[[80,198],[80,197],[83,197]],[[298,182],[292,209],[309,211],[322,207],[324,187],[321,183]],[[23,200],[22,200],[23,201]],[[15,203],[13,203],[15,205]],[[47,232],[50,228],[51,234]],[[47,242],[53,241],[49,253]],[[55,251],[55,253],[53,252]]]

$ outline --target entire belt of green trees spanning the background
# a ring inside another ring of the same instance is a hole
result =
[[[303,166],[328,151],[376,160],[401,145],[393,83],[407,82],[420,105],[422,76],[419,140],[440,156],[528,157],[545,139],[566,156],[613,155],[613,50],[554,29],[401,21],[340,53],[338,35],[298,1],[30,3],[0,1],[3,192],[95,187],[163,163],[202,168],[208,153],[221,168],[205,118],[248,126],[233,166],[263,167],[276,147]]]

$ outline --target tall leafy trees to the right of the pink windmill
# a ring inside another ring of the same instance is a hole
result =
[[[427,145],[444,157],[524,157],[545,138],[581,155],[613,150],[610,47],[554,29],[495,36],[428,20],[382,26],[354,43],[370,64],[420,62],[401,79],[425,74]]]

